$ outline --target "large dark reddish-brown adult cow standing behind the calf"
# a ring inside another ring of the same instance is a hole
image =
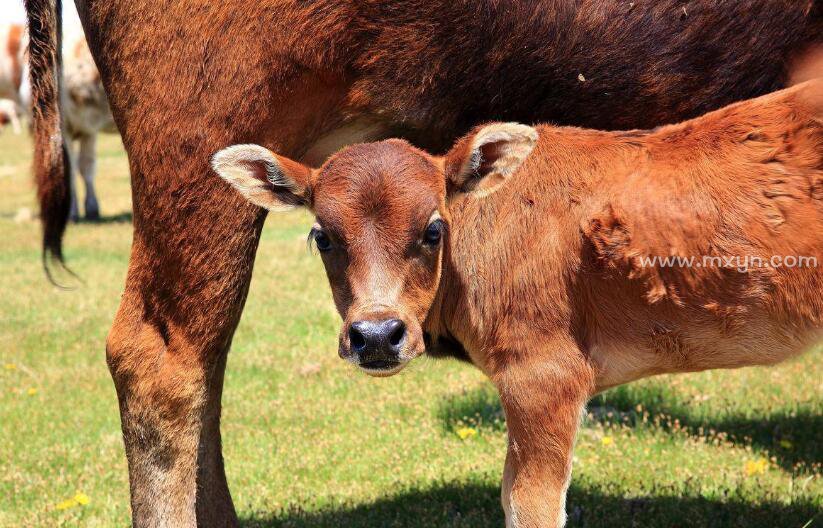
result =
[[[68,187],[58,5],[27,0],[46,254]],[[647,127],[782,86],[823,40],[819,0],[78,0],[132,174],[134,242],[107,341],[134,522],[236,524],[220,397],[264,210],[209,167],[232,143],[314,164],[480,120]]]

